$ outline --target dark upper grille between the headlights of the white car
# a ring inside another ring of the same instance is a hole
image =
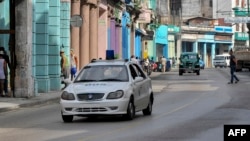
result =
[[[101,100],[104,96],[104,93],[82,93],[77,94],[79,101],[89,101],[89,100]]]

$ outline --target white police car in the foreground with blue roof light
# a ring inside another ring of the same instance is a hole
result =
[[[151,79],[128,60],[94,60],[80,70],[61,94],[64,122],[74,116],[151,115],[154,95]]]

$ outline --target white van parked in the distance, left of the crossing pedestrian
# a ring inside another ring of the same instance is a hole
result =
[[[216,55],[213,59],[213,65],[215,68],[228,67],[230,65],[229,62],[230,62],[230,55],[229,54]]]

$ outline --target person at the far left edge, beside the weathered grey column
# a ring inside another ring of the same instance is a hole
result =
[[[3,58],[4,56],[4,52],[0,51],[0,96],[4,97],[4,96],[8,96],[8,95],[4,95],[4,81],[6,79],[6,74],[7,74],[7,63],[5,61],[5,59]]]

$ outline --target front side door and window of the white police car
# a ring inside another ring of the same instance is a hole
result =
[[[142,104],[142,84],[143,81],[135,81],[136,77],[138,77],[138,71],[136,67],[133,64],[129,65],[130,74],[132,77],[132,88],[133,88],[133,94],[134,94],[134,105],[136,110],[140,109]]]

